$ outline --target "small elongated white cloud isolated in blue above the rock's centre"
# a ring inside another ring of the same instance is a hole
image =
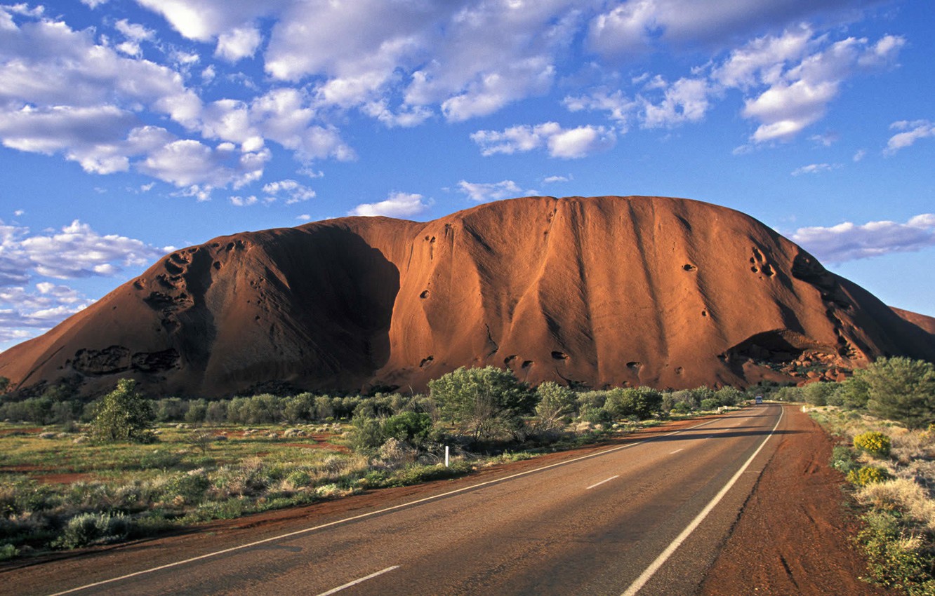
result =
[[[565,129],[558,122],[512,126],[503,131],[477,131],[470,138],[481,146],[485,156],[545,148],[550,156],[562,159],[586,157],[611,149],[617,142],[614,132],[604,126]]]

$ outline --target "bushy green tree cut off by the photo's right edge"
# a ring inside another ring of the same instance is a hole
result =
[[[855,377],[867,389],[867,409],[874,416],[910,428],[935,422],[935,366],[910,358],[881,358]]]

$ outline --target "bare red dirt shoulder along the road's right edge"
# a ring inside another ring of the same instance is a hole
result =
[[[796,434],[773,455],[701,586],[701,596],[895,595],[859,579],[867,561],[853,545],[833,442],[808,415],[787,408]]]

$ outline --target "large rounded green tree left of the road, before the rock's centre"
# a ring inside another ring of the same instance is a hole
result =
[[[487,366],[461,368],[428,382],[441,418],[453,422],[474,441],[504,431],[517,433],[522,416],[531,414],[536,394],[511,371]]]

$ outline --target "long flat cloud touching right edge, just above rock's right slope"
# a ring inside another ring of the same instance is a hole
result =
[[[831,227],[799,228],[790,238],[827,263],[914,252],[935,246],[935,214],[917,215],[905,223],[845,221]]]

